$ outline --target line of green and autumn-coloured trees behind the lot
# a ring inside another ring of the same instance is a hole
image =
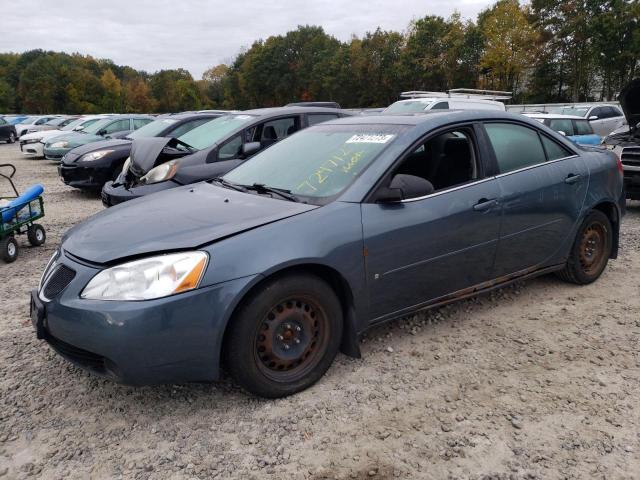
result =
[[[404,90],[508,90],[515,102],[611,100],[640,69],[637,0],[499,0],[473,20],[427,15],[343,42],[320,26],[257,40],[195,80],[110,60],[0,54],[0,112],[176,112],[332,100],[386,106]]]

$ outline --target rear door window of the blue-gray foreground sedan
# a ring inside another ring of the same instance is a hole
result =
[[[512,123],[486,123],[500,173],[546,162],[538,132]]]

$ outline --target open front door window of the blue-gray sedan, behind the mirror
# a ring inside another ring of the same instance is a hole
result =
[[[461,128],[429,138],[407,156],[395,174],[424,178],[434,192],[478,178],[471,129]]]

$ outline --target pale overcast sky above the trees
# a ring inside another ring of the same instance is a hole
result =
[[[34,48],[109,58],[149,73],[202,72],[254,40],[321,25],[340,40],[377,26],[403,31],[413,18],[475,19],[487,0],[20,0],[3,8],[0,52]],[[6,5],[5,5],[6,6]]]

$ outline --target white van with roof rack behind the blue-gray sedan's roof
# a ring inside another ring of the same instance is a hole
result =
[[[463,89],[440,92],[403,92],[401,97],[409,97],[389,105],[382,113],[419,113],[428,110],[500,110],[505,111],[504,103],[497,99],[511,98],[510,92],[490,92],[489,90],[468,90],[474,93],[461,93]],[[465,90],[466,91],[466,90]]]

